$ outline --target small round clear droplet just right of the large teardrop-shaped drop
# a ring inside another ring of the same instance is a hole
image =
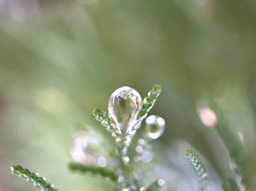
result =
[[[146,129],[148,131],[148,137],[150,139],[157,139],[165,130],[165,122],[163,118],[159,116],[149,116],[146,119]]]

